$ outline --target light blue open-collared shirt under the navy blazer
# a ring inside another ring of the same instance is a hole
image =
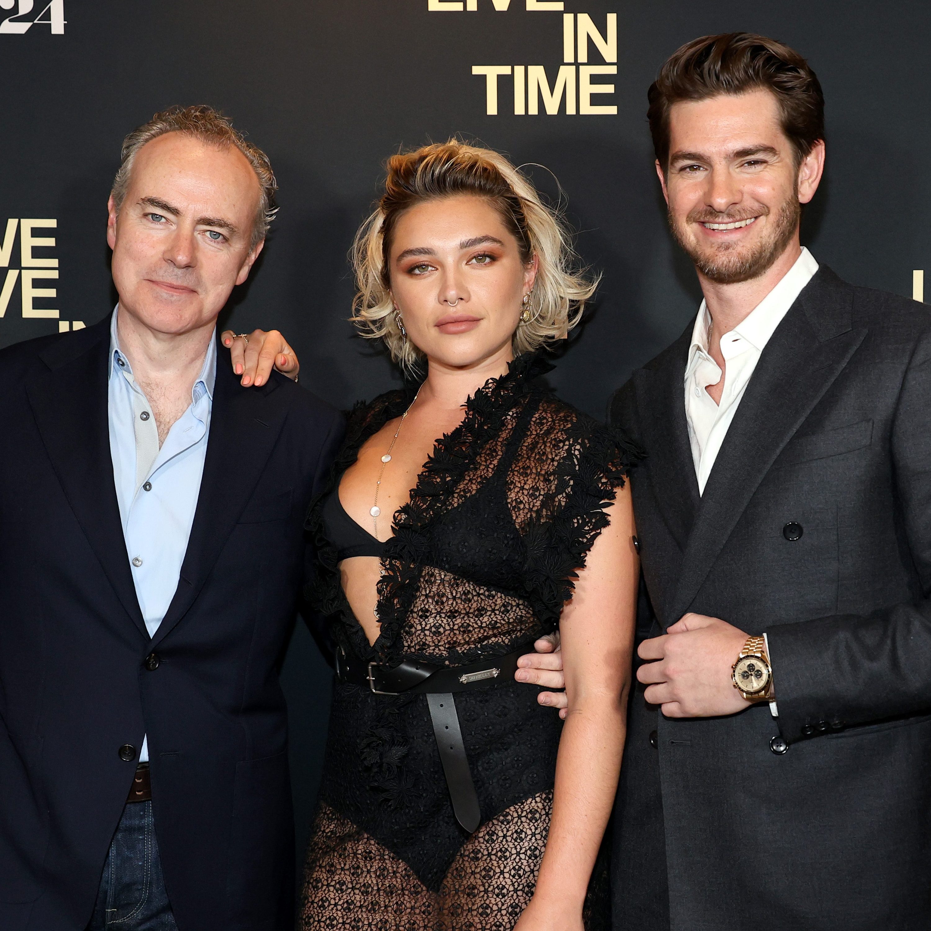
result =
[[[110,324],[110,373],[107,410],[116,499],[136,597],[149,636],[169,609],[204,473],[217,345],[211,338],[203,367],[191,392],[191,406],[171,426],[161,449],[152,407],[120,352],[117,305]],[[148,737],[139,762],[149,759]]]

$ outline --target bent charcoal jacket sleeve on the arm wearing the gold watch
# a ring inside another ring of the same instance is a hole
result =
[[[903,379],[891,457],[903,555],[920,591],[871,614],[767,631],[779,729],[789,742],[931,712],[931,333],[916,344]]]

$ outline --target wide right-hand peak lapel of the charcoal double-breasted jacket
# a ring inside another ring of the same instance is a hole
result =
[[[853,289],[825,266],[762,352],[708,477],[671,605],[688,610],[776,456],[857,350]]]

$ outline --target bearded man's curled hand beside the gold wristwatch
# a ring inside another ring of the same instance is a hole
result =
[[[718,617],[686,614],[663,637],[643,641],[637,654],[654,660],[637,670],[644,697],[668,718],[713,718],[749,706],[731,673],[747,634]]]

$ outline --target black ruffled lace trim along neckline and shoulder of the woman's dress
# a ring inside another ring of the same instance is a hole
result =
[[[416,597],[423,567],[429,558],[431,521],[444,513],[447,503],[468,469],[475,465],[484,445],[499,436],[505,419],[532,393],[545,395],[533,384],[552,366],[534,354],[514,359],[505,375],[490,379],[466,401],[466,414],[451,433],[439,439],[411,492],[411,500],[394,516],[394,536],[385,546],[384,574],[378,583],[378,617],[381,631],[370,645],[352,613],[340,583],[337,553],[324,533],[322,503],[336,492],[344,472],[358,460],[365,442],[388,421],[410,406],[419,385],[389,392],[371,404],[360,403],[350,412],[346,439],[331,470],[327,487],[311,505],[306,527],[317,545],[317,577],[308,598],[331,617],[338,641],[361,658],[391,664],[401,657],[400,636]],[[614,489],[624,483],[640,452],[618,430],[602,427],[579,416],[570,429],[567,448],[572,455],[559,466],[556,485],[560,507],[555,514],[534,519],[524,533],[527,550],[523,586],[534,614],[547,630],[559,624],[560,612],[573,594],[576,571],[609,520],[604,507],[614,501]],[[371,777],[371,789],[383,803],[398,806],[413,788],[415,774],[403,761],[408,748],[398,732],[398,711],[412,696],[380,697],[377,720],[358,743],[361,764]]]

